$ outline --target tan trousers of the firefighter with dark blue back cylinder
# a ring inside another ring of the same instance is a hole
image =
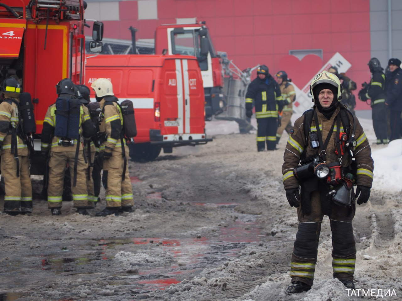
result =
[[[88,191],[86,187],[87,163],[85,163],[82,149],[78,152],[77,158],[77,182],[74,181],[74,161],[76,151],[68,150],[64,152],[50,151],[49,159],[49,184],[47,188],[48,208],[62,207],[64,172],[68,163],[68,169],[71,175],[71,191],[74,201],[74,207],[82,208],[88,206]]]

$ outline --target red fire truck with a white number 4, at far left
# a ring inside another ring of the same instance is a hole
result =
[[[74,83],[84,83],[84,22],[83,0],[0,2],[0,83],[13,76],[31,94],[37,126],[35,150],[40,150],[38,139],[47,108],[57,98],[57,82],[69,77]],[[103,24],[95,22],[93,29],[96,41],[91,46],[99,52]],[[31,160],[31,174],[43,174],[45,164],[39,158]]]

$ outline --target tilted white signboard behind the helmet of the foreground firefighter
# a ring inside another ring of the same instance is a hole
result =
[[[341,73],[349,70],[351,63],[349,63],[342,55],[340,55],[340,53],[337,52],[324,66],[322,66],[320,70],[317,71],[316,74],[321,73],[324,70],[328,70],[331,66],[337,67],[338,73]],[[296,85],[293,84],[296,92],[296,100],[293,103],[293,112],[295,112],[297,115],[303,114],[306,110],[312,108],[313,106],[313,97],[310,93],[310,83],[312,82],[313,78],[314,77],[312,77],[312,79],[306,83],[303,89],[299,89],[299,87],[296,87]]]

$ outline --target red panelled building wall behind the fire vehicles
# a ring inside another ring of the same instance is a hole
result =
[[[332,55],[339,52],[352,67],[347,75],[369,81],[370,13],[368,0],[158,0],[158,19],[138,20],[137,1],[119,2],[120,21],[105,21],[105,37],[154,37],[159,24],[176,18],[206,21],[217,51],[240,68],[265,64],[273,75],[284,69],[302,88]],[[289,50],[322,49],[323,58],[299,61]],[[293,63],[289,67],[289,61]],[[355,92],[357,95],[357,92]],[[357,109],[365,109],[358,103]]]

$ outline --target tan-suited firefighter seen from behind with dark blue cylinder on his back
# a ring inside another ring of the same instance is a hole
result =
[[[95,134],[94,126],[81,102],[76,99],[76,87],[69,78],[56,85],[58,98],[47,109],[41,137],[41,151],[49,157],[47,202],[52,215],[62,214],[62,195],[66,166],[72,179],[74,207],[87,215],[87,163],[82,152],[82,140]]]

